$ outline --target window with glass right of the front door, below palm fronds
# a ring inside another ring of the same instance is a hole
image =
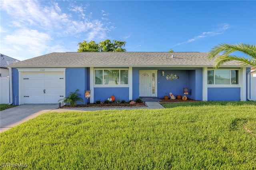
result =
[[[208,69],[207,71],[208,85],[231,85],[238,84],[238,70],[233,69]]]

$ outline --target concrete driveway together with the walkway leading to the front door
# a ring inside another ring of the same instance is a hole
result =
[[[4,132],[20,123],[26,122],[29,119],[37,117],[46,112],[68,112],[68,111],[96,111],[96,110],[111,110],[111,109],[163,109],[158,102],[146,102],[148,107],[114,107],[114,108],[76,108],[76,109],[58,109],[58,104],[44,105],[19,105],[0,111],[0,132]]]

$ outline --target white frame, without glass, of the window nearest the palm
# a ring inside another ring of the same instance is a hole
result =
[[[229,71],[229,81],[230,83],[229,84],[215,84],[216,81],[215,81],[215,71],[219,71],[219,70],[225,70],[225,71]],[[232,70],[235,70],[237,71],[237,81],[238,83],[237,84],[232,84]],[[240,71],[241,69],[239,68],[234,68],[234,69],[207,69],[207,74],[208,74],[208,71],[213,71],[213,84],[208,84],[208,75],[207,75],[207,85],[208,87],[240,87]]]

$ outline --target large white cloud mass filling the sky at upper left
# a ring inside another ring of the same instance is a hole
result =
[[[65,3],[70,6],[61,8],[58,1],[1,0],[1,11],[8,16],[5,20],[1,18],[5,23],[0,28],[1,52],[24,60],[53,50],[68,51],[70,47],[58,45],[65,44],[60,37],[98,41],[112,30],[109,23],[92,20],[92,13],[86,14],[88,3],[79,6],[76,1]]]

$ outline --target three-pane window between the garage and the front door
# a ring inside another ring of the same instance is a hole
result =
[[[95,69],[95,85],[128,85],[128,69]]]

